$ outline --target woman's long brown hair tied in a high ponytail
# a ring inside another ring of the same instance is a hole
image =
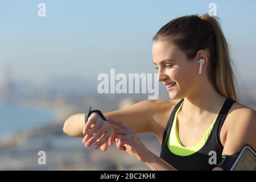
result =
[[[174,43],[189,60],[194,59],[199,50],[208,49],[210,82],[222,96],[238,102],[228,44],[216,18],[208,14],[176,18],[160,28],[152,40]]]

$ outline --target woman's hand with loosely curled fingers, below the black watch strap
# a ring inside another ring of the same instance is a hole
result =
[[[102,119],[97,113],[92,113],[82,133],[85,135],[82,139],[82,143],[84,143],[86,147],[90,147],[94,144],[93,147],[95,149],[100,147],[102,151],[106,151],[108,148],[108,140],[113,133],[113,129],[108,121]]]

